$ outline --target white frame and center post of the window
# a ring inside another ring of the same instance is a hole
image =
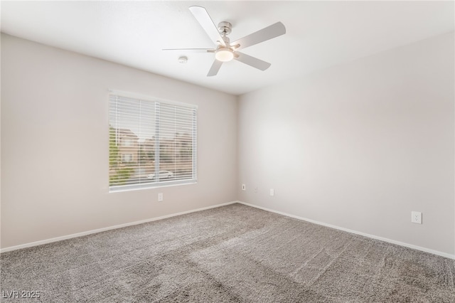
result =
[[[191,154],[191,177],[188,179],[178,179],[178,180],[164,180],[160,181],[158,179],[157,181],[153,182],[146,182],[146,183],[139,183],[139,184],[122,184],[122,185],[111,185],[109,182],[109,178],[107,178],[107,187],[109,190],[109,193],[115,193],[119,191],[134,191],[134,190],[141,190],[141,189],[148,189],[148,188],[161,188],[161,187],[168,187],[168,186],[181,186],[181,185],[188,185],[188,184],[197,184],[198,179],[197,179],[197,137],[198,137],[198,105],[193,105],[189,103],[184,103],[184,102],[176,102],[176,101],[170,101],[170,100],[164,100],[158,97],[151,97],[147,95],[140,95],[132,92],[124,92],[124,91],[119,91],[119,90],[109,90],[109,95],[108,95],[108,137],[110,140],[110,119],[111,119],[111,102],[112,102],[112,96],[114,97],[125,97],[129,99],[134,99],[137,101],[144,101],[144,102],[154,102],[154,107],[155,107],[155,143],[154,143],[154,173],[157,176],[159,176],[159,171],[162,171],[164,169],[161,168],[160,165],[160,117],[161,117],[161,112],[159,110],[160,105],[170,105],[170,106],[177,106],[177,107],[185,107],[188,110],[193,111],[193,117],[191,120],[191,149],[192,149],[192,154]],[[156,107],[158,107],[158,111],[156,110]],[[157,112],[159,114],[157,115]],[[110,147],[108,147],[108,151],[110,152]],[[156,163],[158,165],[156,165]],[[109,170],[110,171],[111,166],[109,164]]]

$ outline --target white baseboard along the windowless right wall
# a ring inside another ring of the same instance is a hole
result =
[[[299,220],[304,220],[306,222],[327,226],[329,228],[343,230],[343,231],[346,231],[348,233],[354,233],[355,235],[363,235],[364,237],[367,237],[367,238],[381,240],[381,241],[384,241],[384,242],[387,242],[387,243],[397,244],[397,245],[405,246],[407,248],[412,248],[414,250],[421,250],[423,252],[432,253],[433,255],[440,255],[441,257],[448,257],[449,259],[454,259],[455,260],[455,255],[451,255],[451,254],[446,253],[446,252],[439,252],[437,250],[430,250],[429,248],[422,248],[422,247],[417,246],[417,245],[412,245],[412,244],[403,243],[403,242],[400,242],[400,241],[395,241],[395,240],[391,240],[391,239],[387,239],[387,238],[378,237],[377,235],[370,235],[368,233],[361,233],[360,231],[357,231],[357,230],[350,230],[348,228],[342,228],[342,227],[339,227],[339,226],[336,226],[336,225],[331,225],[331,224],[319,222],[319,221],[316,221],[316,220],[311,220],[311,219],[308,219],[308,218],[294,216],[294,215],[291,215],[289,213],[283,213],[282,211],[274,211],[273,209],[265,208],[265,207],[262,207],[262,206],[257,206],[255,204],[245,203],[245,202],[242,202],[242,201],[237,201],[237,203],[240,203],[240,204],[243,204],[243,205],[246,205],[246,206],[251,206],[251,207],[254,207],[254,208],[259,208],[259,209],[262,209],[262,211],[269,211],[271,213],[278,213],[279,215],[282,215],[282,216],[287,216],[287,217],[291,217],[291,218],[295,218],[295,219],[299,219]]]

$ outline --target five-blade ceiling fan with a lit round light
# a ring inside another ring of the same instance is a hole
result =
[[[247,48],[248,46],[254,46],[257,43],[267,41],[269,39],[282,36],[286,33],[286,28],[281,22],[262,28],[255,33],[251,33],[248,36],[240,38],[236,41],[230,42],[228,35],[232,31],[232,25],[229,22],[223,21],[218,23],[218,28],[213,23],[212,18],[202,6],[190,6],[190,11],[196,20],[202,26],[203,30],[209,38],[215,42],[215,48],[166,48],[164,50],[188,50],[192,52],[202,52],[202,53],[215,53],[215,61],[212,64],[212,67],[208,71],[207,76],[214,76],[220,70],[221,65],[224,62],[228,62],[232,59],[245,63],[257,68],[259,70],[267,70],[270,63],[258,58],[252,57],[245,53],[240,53],[240,49]]]

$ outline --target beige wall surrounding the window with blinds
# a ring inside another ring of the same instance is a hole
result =
[[[109,89],[198,105],[198,184],[108,193]],[[234,96],[2,34],[1,107],[1,248],[237,198]]]

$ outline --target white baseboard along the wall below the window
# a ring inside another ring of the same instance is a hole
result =
[[[0,249],[0,253],[9,252],[11,250],[20,250],[21,248],[31,248],[33,246],[38,246],[38,245],[58,242],[58,241],[61,241],[61,240],[67,240],[67,239],[71,239],[71,238],[77,238],[77,237],[81,237],[82,235],[91,235],[92,233],[101,233],[101,232],[107,231],[107,230],[113,230],[113,229],[117,229],[117,228],[124,228],[124,227],[127,227],[127,226],[138,225],[138,224],[153,222],[153,221],[157,221],[157,220],[163,220],[163,219],[166,219],[166,218],[171,218],[171,217],[175,217],[175,216],[185,215],[186,213],[196,213],[198,211],[205,211],[205,210],[210,209],[210,208],[218,208],[218,207],[221,207],[221,206],[227,206],[227,205],[234,204],[234,203],[239,203],[239,202],[238,201],[232,201],[232,202],[228,202],[228,203],[217,204],[217,205],[214,205],[214,206],[197,208],[197,209],[193,209],[191,211],[182,211],[180,213],[172,213],[171,215],[166,215],[166,216],[161,216],[161,217],[156,217],[156,218],[150,218],[150,219],[140,220],[140,221],[134,221],[134,222],[131,222],[131,223],[113,225],[113,226],[109,226],[107,228],[98,228],[98,229],[95,229],[95,230],[87,230],[87,231],[84,231],[82,233],[73,233],[71,235],[63,235],[63,236],[57,237],[57,238],[50,238],[50,239],[46,239],[46,240],[39,240],[39,241],[36,241],[36,242],[31,242],[31,243],[26,243],[26,244],[21,244],[21,245],[16,245],[16,246],[10,246],[9,248],[1,248]]]

